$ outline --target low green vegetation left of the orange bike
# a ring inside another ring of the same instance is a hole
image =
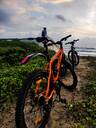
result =
[[[19,54],[16,54],[16,48],[19,48]],[[28,48],[28,51],[26,51]],[[23,50],[22,50],[23,49]],[[24,52],[25,50],[25,52]],[[37,57],[31,59],[27,64],[20,65],[20,60],[33,52],[40,52],[44,48],[36,43],[20,41],[0,41],[0,103],[14,101],[18,95],[19,89],[25,76],[35,68],[42,68],[47,61]],[[22,52],[23,51],[23,52]],[[53,52],[50,52],[50,56]]]

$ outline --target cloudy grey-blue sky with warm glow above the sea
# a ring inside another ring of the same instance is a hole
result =
[[[0,38],[38,36],[44,26],[54,39],[96,40],[96,0],[0,0]]]

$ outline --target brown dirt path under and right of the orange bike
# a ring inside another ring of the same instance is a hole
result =
[[[81,87],[87,83],[86,74],[90,71],[88,67],[87,59],[80,59],[80,64],[76,68],[76,74],[78,76],[78,86],[76,90],[70,93],[64,90],[64,96],[70,104],[73,102],[82,101]],[[50,128],[77,128],[76,122],[71,119],[71,115],[66,111],[65,106],[62,103],[55,104],[52,110],[52,121]]]

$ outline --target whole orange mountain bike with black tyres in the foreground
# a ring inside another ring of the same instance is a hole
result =
[[[67,36],[67,38],[70,36]],[[71,64],[65,59],[62,38],[56,43],[47,38],[47,45],[59,45],[60,49],[48,62],[47,70],[35,70],[27,76],[16,106],[16,128],[45,128],[48,124],[54,95],[61,101],[62,87],[73,90],[77,86],[77,76]],[[66,75],[60,75],[60,68],[67,67]]]

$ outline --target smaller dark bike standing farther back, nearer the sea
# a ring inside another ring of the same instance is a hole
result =
[[[69,52],[68,52],[68,59],[72,63],[73,68],[74,68],[74,66],[79,64],[79,55],[78,55],[78,53],[77,53],[77,51],[75,50],[75,47],[74,47],[74,44],[77,41],[79,41],[79,39],[73,40],[73,41],[68,42],[68,43],[65,43],[65,45],[71,44],[71,50],[69,50]]]

